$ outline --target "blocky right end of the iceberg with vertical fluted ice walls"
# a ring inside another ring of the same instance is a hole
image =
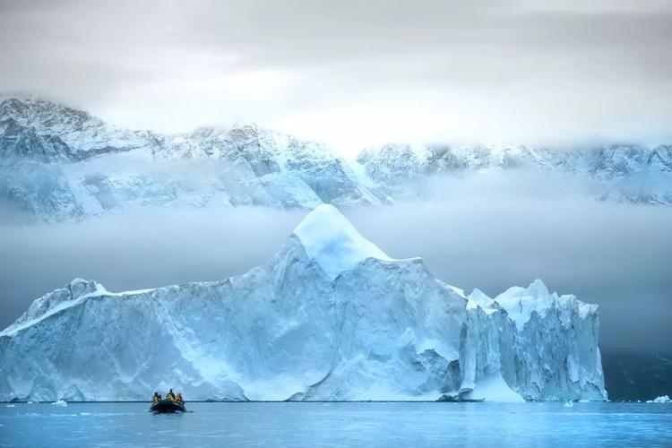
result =
[[[461,349],[461,392],[500,374],[526,400],[606,400],[598,307],[541,280],[491,299],[475,290]]]

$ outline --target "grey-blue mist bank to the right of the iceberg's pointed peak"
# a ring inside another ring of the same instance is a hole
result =
[[[536,278],[599,304],[601,345],[672,351],[672,210],[588,199],[464,197],[351,219],[393,257],[422,256],[435,275],[489,296]]]

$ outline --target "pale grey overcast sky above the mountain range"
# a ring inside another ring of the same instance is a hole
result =
[[[672,2],[0,0],[0,87],[164,132],[672,140]]]

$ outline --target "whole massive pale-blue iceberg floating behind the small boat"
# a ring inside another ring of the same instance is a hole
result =
[[[238,277],[39,297],[0,332],[0,401],[605,400],[598,333],[597,306],[467,297],[323,204]]]

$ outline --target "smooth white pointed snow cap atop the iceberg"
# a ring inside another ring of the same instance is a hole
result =
[[[294,235],[306,249],[306,254],[332,280],[367,258],[393,260],[362,237],[357,228],[330,204],[318,205],[308,213],[294,229]]]

